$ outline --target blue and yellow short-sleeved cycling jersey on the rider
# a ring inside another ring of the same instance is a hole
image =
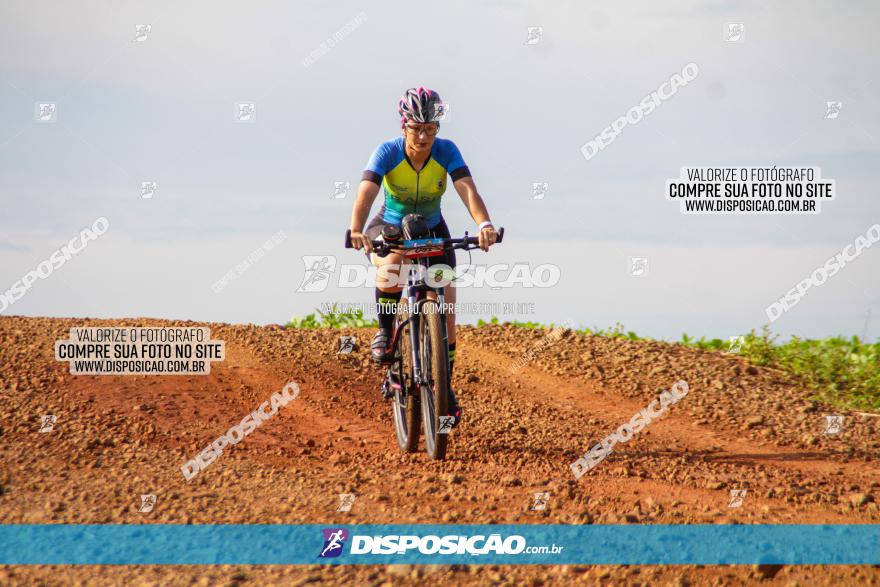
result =
[[[363,179],[385,188],[385,203],[379,211],[384,222],[399,226],[404,216],[417,212],[433,228],[440,222],[440,198],[446,191],[447,173],[453,182],[471,175],[455,143],[434,139],[425,166],[416,172],[400,136],[376,147]]]

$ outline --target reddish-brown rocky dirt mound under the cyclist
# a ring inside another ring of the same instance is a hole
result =
[[[72,376],[73,326],[208,326],[207,376]],[[402,454],[372,332],[0,318],[0,522],[878,523],[880,418],[827,414],[786,374],[674,344],[460,329],[448,460]],[[338,354],[340,335],[358,346]],[[180,466],[289,381],[299,397],[191,481]],[[689,393],[580,479],[569,465],[677,380]],[[41,417],[56,416],[40,433]],[[747,491],[740,507],[730,490]],[[535,492],[550,493],[532,511]],[[338,495],[352,493],[349,512]],[[140,495],[155,494],[149,513]],[[778,569],[776,569],[778,570]],[[0,584],[853,584],[871,567],[5,567]]]

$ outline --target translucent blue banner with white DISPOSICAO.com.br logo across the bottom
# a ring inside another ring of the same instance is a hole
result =
[[[880,564],[880,525],[0,525],[4,565]]]

